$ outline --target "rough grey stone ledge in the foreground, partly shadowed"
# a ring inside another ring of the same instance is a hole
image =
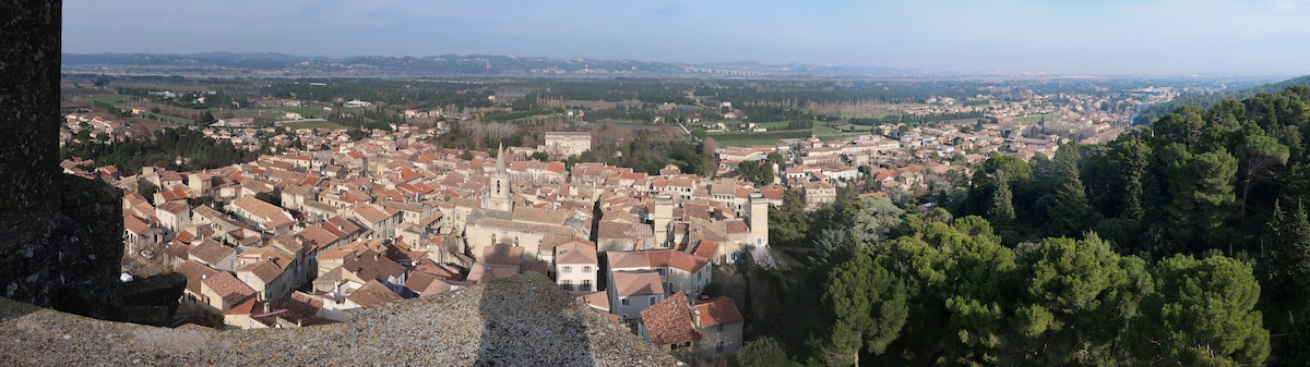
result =
[[[680,364],[534,273],[354,316],[321,327],[204,332],[101,321],[0,299],[0,359],[9,366]]]

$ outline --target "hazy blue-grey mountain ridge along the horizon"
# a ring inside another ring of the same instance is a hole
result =
[[[287,76],[910,76],[914,71],[814,64],[662,63],[512,55],[293,56],[280,52],[63,54],[67,73],[263,73]]]

